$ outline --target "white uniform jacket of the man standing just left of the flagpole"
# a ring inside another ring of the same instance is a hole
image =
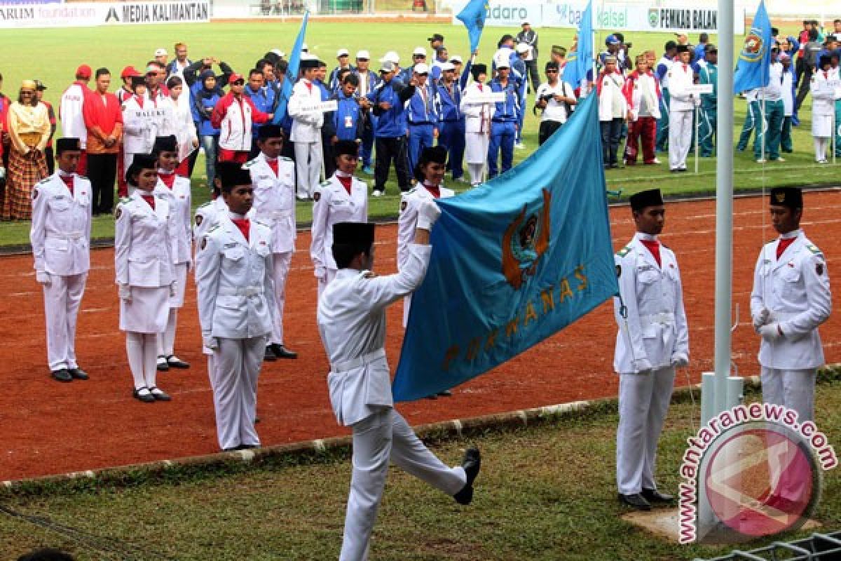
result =
[[[637,233],[614,256],[621,299],[613,299],[619,325],[613,368],[621,374],[666,368],[676,357],[689,359],[689,328],[674,252],[660,244],[661,267],[641,236],[646,235]]]

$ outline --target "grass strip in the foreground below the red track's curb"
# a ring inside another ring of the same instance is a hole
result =
[[[841,442],[841,383],[818,386],[817,424]],[[697,396],[696,396],[697,397]],[[757,394],[749,394],[748,401]],[[685,438],[698,408],[673,404],[659,447],[659,484],[674,491]],[[468,444],[483,453],[473,505],[452,499],[397,468],[373,532],[379,561],[648,561],[710,558],[728,551],[680,546],[621,520],[616,500],[616,405],[528,428],[485,430],[432,443],[448,463]],[[28,548],[66,548],[99,559],[337,558],[351,465],[346,453],[273,458],[259,465],[174,469],[123,484],[77,480],[0,496],[0,558]],[[10,512],[13,513],[12,516]],[[841,527],[838,469],[824,474],[818,531]],[[789,533],[790,540],[808,532]],[[759,547],[770,539],[742,544]]]

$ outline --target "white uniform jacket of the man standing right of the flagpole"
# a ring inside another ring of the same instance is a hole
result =
[[[769,310],[768,322],[779,324],[784,337],[762,340],[759,364],[784,370],[818,368],[823,365],[823,347],[817,326],[828,320],[833,308],[826,260],[802,230],[779,260],[778,243],[765,244],[759,253],[750,312],[755,316],[763,308]]]

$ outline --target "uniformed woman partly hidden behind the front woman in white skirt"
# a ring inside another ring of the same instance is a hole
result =
[[[190,180],[177,175],[178,142],[175,135],[158,136],[153,152],[158,160],[158,182],[154,194],[169,204],[169,241],[172,244],[172,273],[175,275],[175,295],[169,299],[167,329],[158,334],[157,369],[166,372],[170,368],[190,368],[175,356],[175,330],[178,324],[178,308],[184,306],[184,289],[187,286],[187,272],[193,265],[193,232],[190,228],[192,193]]]

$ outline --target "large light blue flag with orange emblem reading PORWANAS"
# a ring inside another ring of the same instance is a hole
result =
[[[426,278],[412,295],[394,399],[479,376],[618,293],[590,93],[532,156],[438,199]]]

